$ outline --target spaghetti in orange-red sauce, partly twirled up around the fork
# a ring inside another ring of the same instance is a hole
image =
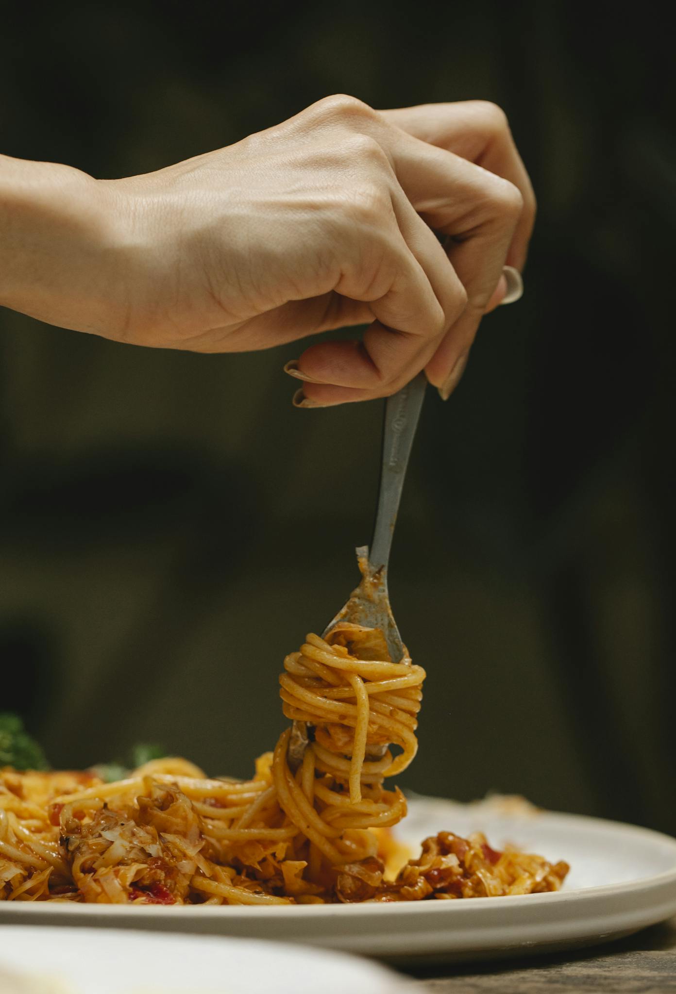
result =
[[[156,759],[92,772],[0,770],[0,899],[270,905],[453,899],[558,890],[568,867],[440,833],[393,879],[384,780],[417,750],[424,671],[393,663],[379,629],[342,622],[284,660],[289,728],[250,780]],[[289,747],[293,745],[293,747]],[[392,746],[398,749],[394,754]],[[401,860],[400,860],[401,863]]]

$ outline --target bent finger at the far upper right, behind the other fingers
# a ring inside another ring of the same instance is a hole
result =
[[[388,123],[429,145],[454,152],[496,176],[509,180],[523,197],[523,213],[514,231],[506,262],[520,271],[526,264],[533,233],[536,199],[526,167],[517,151],[505,112],[488,100],[423,103],[382,110]]]

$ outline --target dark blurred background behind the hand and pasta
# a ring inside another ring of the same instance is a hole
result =
[[[523,300],[422,414],[391,565],[428,674],[403,783],[676,832],[676,87],[655,12],[3,4],[0,146],[113,178],[331,92],[505,108],[540,214]],[[155,741],[246,774],[283,727],[283,655],[356,581],[380,405],[293,410],[294,346],[0,324],[0,710],[54,764]]]

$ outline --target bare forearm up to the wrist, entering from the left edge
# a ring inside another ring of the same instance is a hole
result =
[[[114,244],[106,196],[78,169],[0,156],[0,305],[100,330]]]

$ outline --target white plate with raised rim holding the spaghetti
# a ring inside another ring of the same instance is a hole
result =
[[[563,891],[513,898],[392,905],[130,907],[0,902],[0,924],[103,925],[283,941],[411,959],[482,958],[591,944],[676,912],[676,840],[579,815],[502,814],[489,803],[418,798],[400,836],[420,843],[441,829],[483,831],[572,870]]]

